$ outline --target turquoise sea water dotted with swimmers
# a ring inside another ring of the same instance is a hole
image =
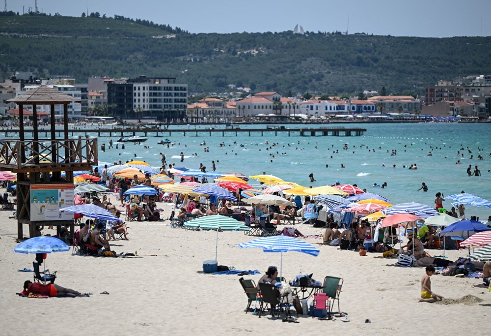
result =
[[[182,134],[169,137],[167,133],[159,138],[149,136],[149,140],[141,145],[125,144],[125,150],[121,150],[119,145],[118,150],[112,148],[107,149],[105,153],[99,151],[99,160],[113,162],[121,159],[125,162],[133,158],[145,160],[151,166],[160,166],[159,153],[164,152],[167,162],[175,162],[176,166],[184,165],[188,168],[197,168],[203,163],[207,170],[211,170],[212,160],[215,160],[217,171],[223,173],[256,175],[266,172],[304,186],[333,184],[335,181],[342,184],[356,183],[358,187],[366,188],[367,191],[384,195],[393,204],[414,201],[434,206],[436,192],[448,195],[462,190],[491,200],[491,173],[488,172],[491,169],[491,124],[351,123],[343,126],[364,127],[367,131],[360,137],[288,137],[287,133],[278,133],[275,136],[274,131],[265,132],[262,137],[260,133],[252,133],[250,137],[247,133],[238,133],[237,137],[235,133],[225,133],[224,137],[221,133],[212,133],[211,136],[201,133],[196,137],[191,132],[188,132],[186,137]],[[171,126],[173,129],[188,127],[190,126]],[[223,126],[217,128],[220,127]],[[258,126],[241,125],[241,128]],[[191,129],[194,129],[194,126],[191,126]],[[90,133],[88,135],[97,136]],[[158,145],[157,142],[164,138],[169,138],[176,144],[169,149],[164,145]],[[117,137],[112,138],[113,142],[116,140]],[[203,141],[206,142],[206,146],[200,146]],[[237,145],[233,144],[234,141]],[[221,142],[225,147],[219,147]],[[265,142],[269,142],[270,145],[265,145]],[[99,138],[99,144],[102,143],[106,143],[108,148],[109,137]],[[278,145],[271,147],[273,143]],[[240,147],[240,144],[244,144],[245,147]],[[348,144],[347,151],[343,150],[344,144]],[[143,149],[143,146],[150,146],[150,149]],[[209,148],[209,153],[204,152],[205,147]],[[469,158],[471,154],[468,153],[467,147],[472,151],[473,159]],[[375,152],[369,149],[375,149]],[[397,151],[397,155],[391,156],[393,150]],[[457,156],[459,150],[464,157]],[[336,151],[338,153],[334,153]],[[181,152],[187,157],[184,163],[179,162]],[[433,155],[427,156],[429,152]],[[484,160],[477,160],[479,154]],[[457,160],[462,164],[456,164]],[[382,167],[382,163],[385,167]],[[418,169],[409,170],[408,167],[414,163]],[[329,165],[327,169],[326,164]],[[341,164],[346,168],[340,168]],[[394,164],[395,169],[392,168]],[[482,176],[468,177],[466,169],[469,164],[472,164],[472,169],[478,165]],[[403,165],[406,165],[406,168],[403,168]],[[316,182],[309,182],[310,173],[314,174]],[[372,187],[374,183],[383,182],[387,183],[387,188]],[[422,182],[428,185],[428,192],[416,191]],[[451,201],[447,200],[443,202],[443,206],[450,209],[450,203]],[[468,207],[467,215],[471,213],[485,220],[491,215],[491,209]]]

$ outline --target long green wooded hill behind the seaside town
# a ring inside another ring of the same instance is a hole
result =
[[[286,94],[382,86],[422,93],[439,79],[491,74],[491,37],[190,34],[123,19],[0,16],[0,77],[35,71],[40,78],[69,75],[84,83],[91,76],[144,74],[177,77],[190,92],[230,91],[233,84]]]

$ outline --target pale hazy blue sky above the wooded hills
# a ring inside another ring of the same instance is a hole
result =
[[[34,0],[7,0],[7,10]],[[99,12],[200,32],[365,32],[374,35],[490,36],[491,0],[37,0],[43,13]],[[349,22],[349,24],[348,24]]]

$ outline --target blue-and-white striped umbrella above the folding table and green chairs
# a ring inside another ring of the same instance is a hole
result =
[[[247,243],[238,244],[240,248],[260,247],[264,252],[280,252],[280,277],[283,273],[283,252],[300,252],[314,257],[319,255],[319,249],[304,241],[289,236],[270,236],[254,239]]]

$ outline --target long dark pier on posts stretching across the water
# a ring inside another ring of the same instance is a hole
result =
[[[58,136],[61,136],[65,130],[56,129],[55,132]],[[9,135],[17,135],[19,134],[19,129],[8,129],[4,130],[5,136]],[[32,129],[24,129],[24,134],[34,133]],[[52,131],[49,129],[37,129],[36,132],[38,135],[48,137],[52,134]],[[288,136],[362,136],[364,132],[366,132],[366,128],[361,127],[319,127],[319,128],[208,128],[208,129],[162,129],[162,128],[147,128],[147,127],[114,127],[114,128],[83,128],[83,129],[68,129],[68,133],[73,136],[80,135],[81,133],[85,133],[87,136],[88,133],[97,133],[98,137],[125,137],[125,136],[135,136],[135,135],[143,135],[147,136],[155,136],[155,137],[171,137],[173,134],[182,134],[186,135],[209,135],[212,133],[221,133],[221,136],[225,135],[234,135],[237,136],[238,133],[248,133],[249,136],[254,134],[264,133],[273,133],[277,136],[278,133],[288,133]]]

